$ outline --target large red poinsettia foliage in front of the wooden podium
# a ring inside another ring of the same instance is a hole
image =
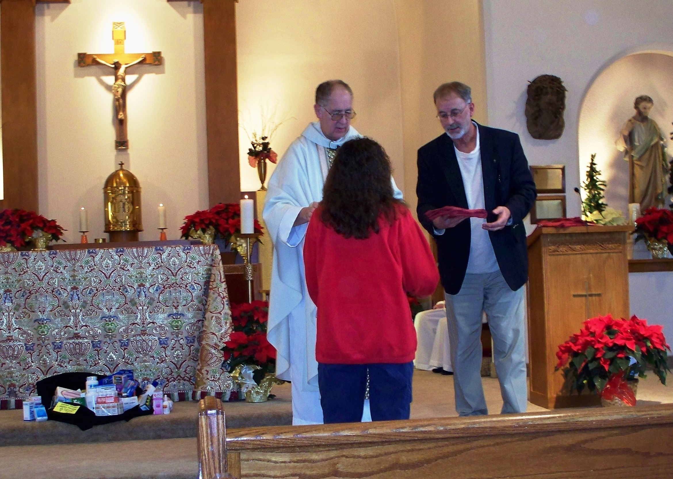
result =
[[[579,394],[588,388],[604,394],[604,398],[606,392],[614,394],[614,390],[624,388],[627,380],[646,377],[647,365],[666,384],[666,350],[670,347],[662,330],[662,326],[648,326],[637,316],[630,320],[616,320],[609,314],[592,318],[559,346],[556,369],[565,366],[569,393]]]

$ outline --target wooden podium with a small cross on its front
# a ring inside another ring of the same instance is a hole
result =
[[[528,237],[530,402],[543,408],[598,404],[561,394],[559,344],[598,315],[629,318],[627,237],[631,226],[538,227]]]

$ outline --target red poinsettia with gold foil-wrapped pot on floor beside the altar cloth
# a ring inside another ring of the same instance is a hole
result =
[[[232,333],[222,351],[222,367],[245,394],[247,402],[265,402],[274,384],[276,349],[267,340],[269,303],[252,301],[232,305]]]

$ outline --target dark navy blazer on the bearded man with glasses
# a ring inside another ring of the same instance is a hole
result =
[[[523,219],[535,200],[535,184],[519,135],[481,124],[477,127],[486,210],[505,206],[511,211],[511,225],[489,231],[489,236],[500,272],[516,291],[528,280]],[[446,133],[419,149],[418,168],[418,217],[437,242],[441,284],[447,293],[455,295],[462,287],[470,256],[470,221],[435,235],[432,221],[425,216],[426,211],[444,206],[468,207],[454,142]]]

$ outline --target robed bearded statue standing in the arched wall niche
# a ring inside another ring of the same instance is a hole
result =
[[[629,203],[639,203],[640,211],[662,208],[668,180],[666,147],[659,125],[649,118],[654,101],[647,95],[633,103],[633,115],[621,130],[617,149],[629,161]]]

